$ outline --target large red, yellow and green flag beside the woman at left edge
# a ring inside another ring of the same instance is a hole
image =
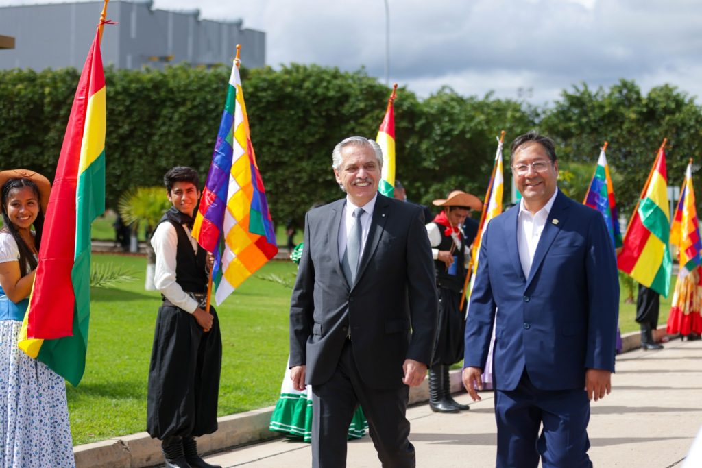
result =
[[[100,28],[78,82],[44,220],[19,347],[76,386],[90,319],[91,223],[105,211],[105,74]]]

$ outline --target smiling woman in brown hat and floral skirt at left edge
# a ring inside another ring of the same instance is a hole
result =
[[[51,185],[17,169],[0,187],[0,467],[73,467],[65,382],[17,346]]]

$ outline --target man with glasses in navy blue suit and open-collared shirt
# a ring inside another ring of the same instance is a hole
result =
[[[614,372],[614,247],[602,215],[557,189],[550,138],[517,137],[512,175],[522,201],[491,220],[480,247],[463,383],[479,400],[494,326],[496,466],[591,467],[590,400]]]

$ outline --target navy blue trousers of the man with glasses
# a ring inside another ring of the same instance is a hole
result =
[[[539,457],[543,468],[592,467],[590,401],[584,389],[537,389],[525,369],[516,389],[496,390],[495,417],[496,467],[536,468]]]

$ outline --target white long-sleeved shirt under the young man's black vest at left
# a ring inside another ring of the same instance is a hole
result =
[[[190,235],[190,229],[183,225],[192,250],[197,253],[197,241]],[[151,246],[156,253],[154,286],[185,312],[192,314],[199,307],[196,300],[187,295],[180,284],[176,283],[176,253],[178,252],[178,234],[170,222],[161,222],[151,238]]]

